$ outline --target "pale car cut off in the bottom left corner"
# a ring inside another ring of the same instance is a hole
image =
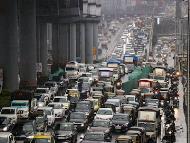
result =
[[[11,132],[0,132],[0,143],[16,143]]]

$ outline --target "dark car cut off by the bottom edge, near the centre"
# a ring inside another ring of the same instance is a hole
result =
[[[104,132],[87,132],[84,137],[80,138],[81,143],[106,143],[111,142],[112,138]]]

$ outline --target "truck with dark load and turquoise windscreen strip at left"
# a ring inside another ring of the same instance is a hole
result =
[[[18,118],[29,118],[37,111],[37,99],[30,90],[17,90],[11,95],[11,107],[18,109]]]

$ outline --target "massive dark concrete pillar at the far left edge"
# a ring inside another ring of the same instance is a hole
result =
[[[4,88],[18,89],[18,19],[17,1],[0,1],[0,68]]]

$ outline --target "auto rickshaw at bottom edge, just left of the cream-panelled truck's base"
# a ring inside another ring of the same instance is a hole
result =
[[[127,135],[132,137],[133,143],[144,143],[140,131],[128,130]]]

